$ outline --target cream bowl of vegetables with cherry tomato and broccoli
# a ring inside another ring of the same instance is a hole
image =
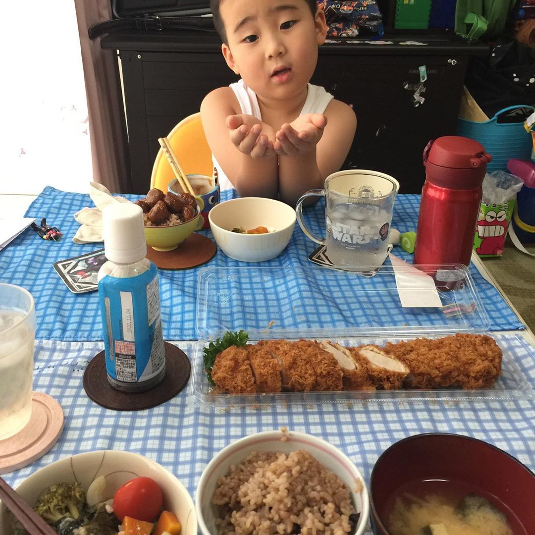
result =
[[[161,465],[130,452],[82,453],[16,489],[58,535],[196,535],[192,498]],[[0,533],[26,530],[0,507]]]

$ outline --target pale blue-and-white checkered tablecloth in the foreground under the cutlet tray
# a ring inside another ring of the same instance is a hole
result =
[[[499,334],[522,375],[535,386],[533,348],[519,335]],[[177,345],[189,355],[191,342]],[[369,482],[373,464],[391,444],[409,435],[450,432],[485,440],[535,470],[535,401],[373,402],[314,406],[269,404],[259,409],[217,411],[190,403],[182,391],[159,407],[116,412],[93,403],[82,387],[88,362],[100,342],[36,342],[34,389],[62,405],[65,429],[57,444],[26,468],[5,474],[12,486],[60,458],[98,449],[146,455],[171,470],[195,496],[201,473],[213,455],[258,431],[310,433],[340,448]]]

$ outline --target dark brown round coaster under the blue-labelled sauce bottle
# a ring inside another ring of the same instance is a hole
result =
[[[174,398],[189,380],[191,365],[184,351],[164,342],[165,376],[162,382],[146,392],[120,392],[113,388],[106,375],[104,351],[93,357],[83,373],[83,388],[97,405],[112,410],[143,410]]]

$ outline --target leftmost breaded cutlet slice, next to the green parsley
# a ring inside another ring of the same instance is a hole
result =
[[[212,379],[216,386],[230,394],[253,394],[256,392],[253,371],[244,347],[227,347],[216,356]]]

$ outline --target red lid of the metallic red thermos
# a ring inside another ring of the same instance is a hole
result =
[[[440,187],[480,187],[492,156],[481,143],[457,135],[431,140],[424,149],[426,180]]]

